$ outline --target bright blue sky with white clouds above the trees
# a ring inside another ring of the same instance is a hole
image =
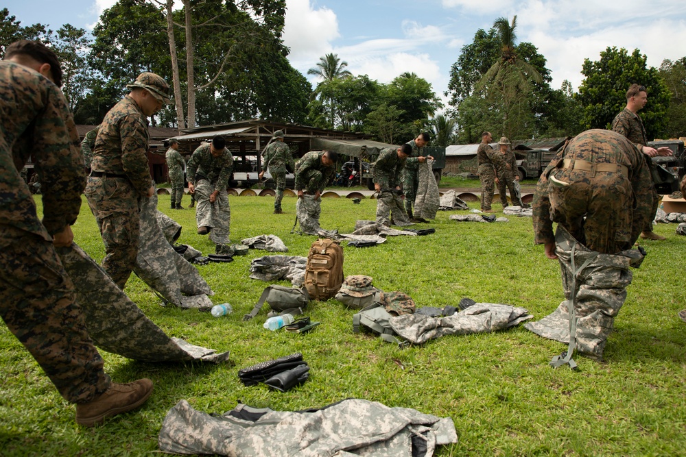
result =
[[[10,0],[7,8],[23,25],[90,29],[114,3]],[[477,29],[515,14],[518,39],[532,42],[547,58],[554,88],[564,79],[578,88],[584,58],[597,60],[608,46],[638,48],[651,66],[686,56],[683,0],[287,0],[283,39],[292,65],[305,75],[320,56],[333,52],[355,75],[390,82],[414,71],[442,96],[460,48]]]

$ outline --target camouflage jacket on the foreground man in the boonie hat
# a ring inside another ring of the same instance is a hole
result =
[[[128,95],[105,115],[95,139],[91,169],[126,175],[139,195],[147,195],[152,178],[147,163],[147,117]]]

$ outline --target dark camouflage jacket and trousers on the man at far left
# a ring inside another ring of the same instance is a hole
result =
[[[110,379],[52,243],[81,208],[79,137],[57,86],[10,62],[0,74],[0,313],[60,395],[89,402]],[[19,174],[29,155],[43,177],[43,223]]]

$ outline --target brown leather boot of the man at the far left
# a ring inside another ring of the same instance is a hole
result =
[[[113,382],[102,395],[88,403],[76,405],[76,422],[86,427],[102,423],[115,416],[141,406],[152,394],[152,381],[144,378],[128,384]]]

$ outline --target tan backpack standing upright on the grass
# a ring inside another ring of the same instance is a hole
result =
[[[309,248],[305,283],[311,300],[328,300],[343,284],[343,248],[331,238],[316,240]]]

